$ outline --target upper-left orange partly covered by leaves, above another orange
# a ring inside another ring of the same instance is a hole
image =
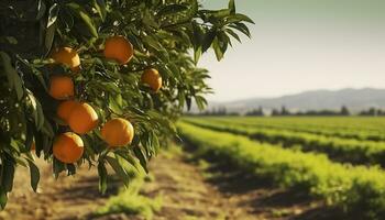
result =
[[[52,58],[57,64],[64,64],[68,66],[73,72],[80,69],[80,57],[77,54],[76,50],[70,47],[57,48],[53,52]]]

